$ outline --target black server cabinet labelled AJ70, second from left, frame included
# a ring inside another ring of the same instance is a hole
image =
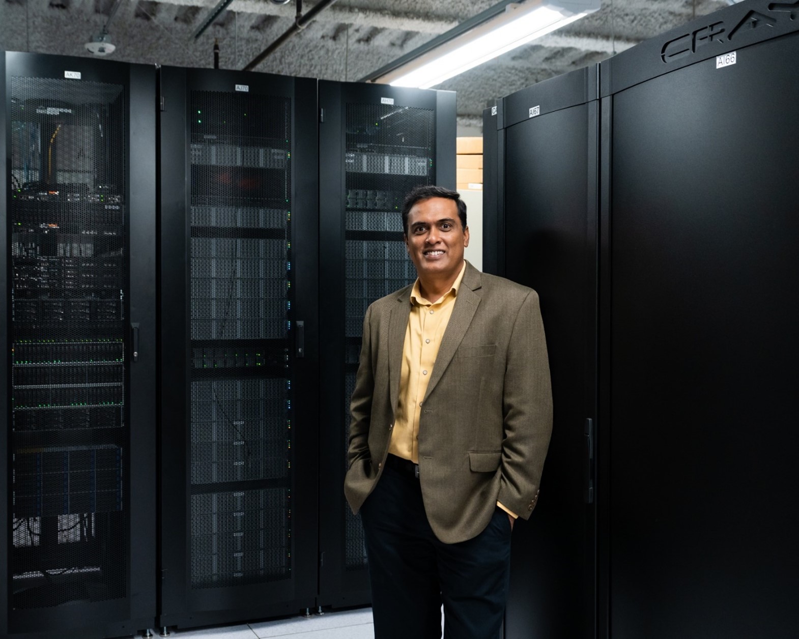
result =
[[[317,587],[316,80],[162,68],[160,626]]]

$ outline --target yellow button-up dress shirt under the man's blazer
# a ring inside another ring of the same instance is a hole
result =
[[[417,279],[411,290],[411,313],[408,316],[400,368],[400,397],[388,452],[411,462],[419,463],[419,415],[427,393],[427,383],[433,373],[435,358],[447,323],[455,306],[455,297],[466,272],[466,262],[452,288],[439,300],[423,298]],[[516,518],[516,514],[497,502],[497,506]]]

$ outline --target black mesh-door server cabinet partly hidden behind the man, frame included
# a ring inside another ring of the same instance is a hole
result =
[[[404,195],[455,189],[455,93],[320,81],[320,605],[371,601],[360,518],[342,486],[364,314],[415,280]]]

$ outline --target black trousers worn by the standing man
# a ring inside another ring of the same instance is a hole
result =
[[[361,507],[375,639],[497,639],[511,566],[511,523],[497,507],[482,533],[445,544],[419,480],[391,466]]]

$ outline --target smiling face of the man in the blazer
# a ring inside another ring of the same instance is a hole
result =
[[[405,245],[421,280],[425,276],[455,280],[463,268],[463,249],[469,245],[469,228],[460,224],[458,204],[446,197],[414,204],[407,216]]]

